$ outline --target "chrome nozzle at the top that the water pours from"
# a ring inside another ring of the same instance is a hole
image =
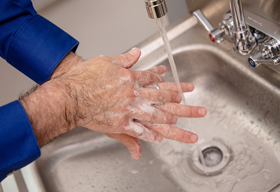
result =
[[[165,0],[145,0],[147,12],[150,18],[157,19],[167,14]]]

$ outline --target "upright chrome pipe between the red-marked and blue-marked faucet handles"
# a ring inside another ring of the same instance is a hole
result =
[[[245,23],[242,1],[230,0],[230,6],[234,22],[233,48],[237,54],[246,56],[257,46],[257,41]]]

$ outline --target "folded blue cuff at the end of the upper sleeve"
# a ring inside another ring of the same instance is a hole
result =
[[[67,53],[76,51],[78,44],[71,35],[36,14],[15,33],[7,62],[42,84]]]

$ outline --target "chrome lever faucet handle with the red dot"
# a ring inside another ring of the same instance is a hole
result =
[[[224,30],[214,28],[200,9],[194,11],[193,15],[197,18],[198,22],[208,31],[210,40],[217,43],[220,43],[224,40]]]

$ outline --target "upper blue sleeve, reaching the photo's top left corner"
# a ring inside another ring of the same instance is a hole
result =
[[[42,84],[79,42],[38,15],[30,0],[0,1],[0,56]]]

